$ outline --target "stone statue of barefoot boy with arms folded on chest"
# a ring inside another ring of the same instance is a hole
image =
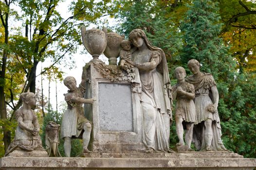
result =
[[[179,138],[179,143],[176,145],[185,145],[183,140],[183,121],[186,126],[185,141],[189,151],[191,149],[191,142],[193,137],[193,127],[196,121],[196,109],[193,99],[195,98],[194,85],[185,82],[186,72],[183,67],[175,69],[175,77],[177,84],[172,86],[173,99],[177,99],[176,102],[176,132]]]

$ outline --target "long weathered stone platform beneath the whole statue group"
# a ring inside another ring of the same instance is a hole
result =
[[[86,157],[3,157],[0,170],[253,170],[256,159],[228,152],[85,153]]]

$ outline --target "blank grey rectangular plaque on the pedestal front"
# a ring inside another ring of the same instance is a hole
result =
[[[133,131],[131,87],[99,83],[100,131]]]

